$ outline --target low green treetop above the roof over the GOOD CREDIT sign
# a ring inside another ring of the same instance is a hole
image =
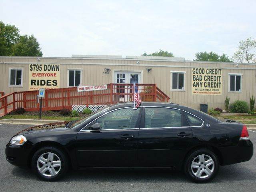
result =
[[[221,56],[215,52],[198,52],[196,53],[196,61],[219,61],[219,62],[233,62],[226,54]]]

